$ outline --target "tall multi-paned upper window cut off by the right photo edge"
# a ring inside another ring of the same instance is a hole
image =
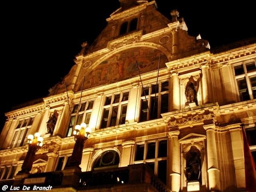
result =
[[[234,66],[240,101],[256,99],[255,61],[242,62]]]

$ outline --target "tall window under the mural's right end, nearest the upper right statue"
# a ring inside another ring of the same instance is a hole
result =
[[[142,87],[139,122],[158,119],[169,111],[169,81]]]

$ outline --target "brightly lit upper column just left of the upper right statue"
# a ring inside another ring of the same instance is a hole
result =
[[[180,79],[178,73],[171,75],[172,81],[172,109],[171,111],[180,110]]]

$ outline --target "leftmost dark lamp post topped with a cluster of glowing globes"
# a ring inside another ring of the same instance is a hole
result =
[[[29,150],[21,166],[21,171],[19,171],[18,174],[20,173],[29,174],[33,166],[35,153],[36,151],[38,151],[39,148],[42,147],[44,139],[43,137],[40,136],[39,133],[35,133],[34,135],[28,135],[27,140],[29,144]]]

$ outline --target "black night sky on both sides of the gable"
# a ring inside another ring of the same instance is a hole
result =
[[[169,19],[170,11],[178,9],[189,35],[200,34],[211,48],[256,36],[250,1],[193,2],[156,0]],[[119,0],[6,1],[1,7],[0,129],[12,106],[47,96],[67,75],[81,44],[91,44],[100,34]]]

